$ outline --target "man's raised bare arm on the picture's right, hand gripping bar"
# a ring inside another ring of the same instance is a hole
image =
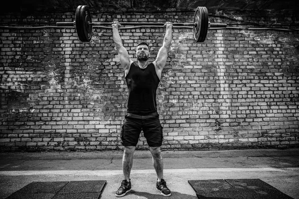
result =
[[[172,40],[172,24],[170,22],[166,22],[164,27],[165,26],[166,26],[166,32],[163,40],[163,45],[158,51],[156,60],[153,62],[156,69],[156,74],[159,79],[161,79],[161,73],[166,64],[168,51]]]

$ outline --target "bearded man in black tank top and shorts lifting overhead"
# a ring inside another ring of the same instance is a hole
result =
[[[168,197],[171,192],[163,179],[163,159],[160,151],[163,133],[156,107],[156,90],[171,45],[172,24],[170,22],[164,24],[166,32],[163,44],[152,63],[149,63],[149,45],[146,42],[141,42],[136,47],[137,62],[130,59],[128,51],[122,44],[118,31],[119,27],[121,24],[117,21],[112,24],[113,40],[119,54],[121,67],[125,72],[129,99],[121,132],[122,144],[124,145],[124,180],[115,195],[123,197],[131,191],[130,173],[133,165],[133,154],[141,130],[143,130],[152,155],[153,167],[157,174],[156,189],[161,195]]]

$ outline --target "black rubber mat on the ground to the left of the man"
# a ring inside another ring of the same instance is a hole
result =
[[[32,182],[6,199],[99,199],[106,181]]]

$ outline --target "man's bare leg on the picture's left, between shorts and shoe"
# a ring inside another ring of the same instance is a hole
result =
[[[124,180],[130,182],[130,174],[133,166],[133,154],[135,151],[135,146],[125,146],[123,155],[123,172]]]

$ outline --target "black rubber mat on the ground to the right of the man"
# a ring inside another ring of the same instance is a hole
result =
[[[190,180],[198,199],[293,199],[260,179]]]

